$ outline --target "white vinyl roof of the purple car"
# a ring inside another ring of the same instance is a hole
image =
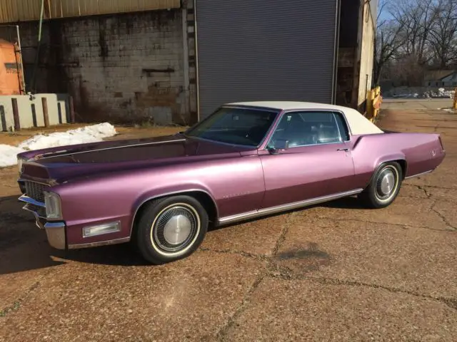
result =
[[[263,107],[278,110],[339,110],[344,113],[353,135],[383,133],[374,123],[365,118],[353,108],[341,105],[327,105],[325,103],[294,102],[294,101],[252,101],[227,103],[226,105],[246,105],[250,107]]]

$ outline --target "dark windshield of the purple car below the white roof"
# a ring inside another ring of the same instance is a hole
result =
[[[277,113],[253,108],[219,108],[185,134],[235,145],[258,146]]]

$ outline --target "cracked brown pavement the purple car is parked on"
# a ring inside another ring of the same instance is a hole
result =
[[[391,207],[215,229],[164,266],[126,245],[51,249],[1,169],[0,341],[455,341],[457,115],[404,102],[379,125],[442,133],[447,155]]]

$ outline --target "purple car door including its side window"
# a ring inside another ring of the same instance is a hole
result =
[[[261,208],[354,190],[349,137],[341,113],[284,113],[266,149],[259,150],[266,190]],[[286,141],[285,149],[271,148]]]

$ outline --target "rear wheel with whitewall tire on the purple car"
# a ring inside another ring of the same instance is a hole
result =
[[[388,207],[397,197],[403,180],[403,170],[398,162],[386,162],[371,178],[368,187],[358,195],[367,207]]]

